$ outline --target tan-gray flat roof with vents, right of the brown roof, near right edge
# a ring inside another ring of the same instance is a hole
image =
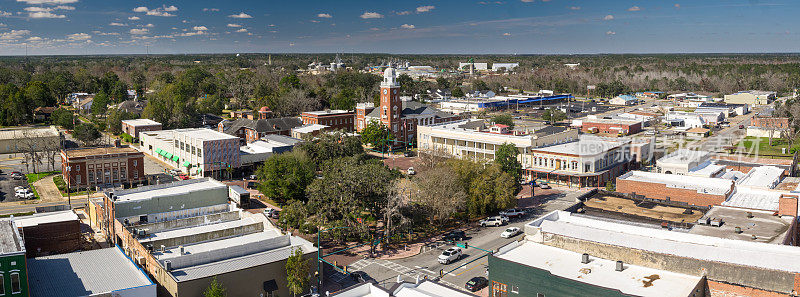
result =
[[[748,218],[748,215],[753,217]],[[773,244],[783,244],[792,223],[792,218],[774,216],[771,211],[720,206],[711,208],[704,217],[721,219],[722,226],[712,227],[697,224],[689,230],[689,233]],[[741,228],[742,233],[736,233],[736,227]],[[755,239],[753,235],[755,235]]]

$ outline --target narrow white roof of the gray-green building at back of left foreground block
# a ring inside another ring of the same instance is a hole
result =
[[[150,199],[161,196],[171,196],[176,194],[185,194],[192,192],[202,192],[209,189],[227,188],[221,182],[211,178],[198,178],[182,180],[168,184],[145,186],[121,191],[115,191],[114,196],[117,197],[117,202]]]

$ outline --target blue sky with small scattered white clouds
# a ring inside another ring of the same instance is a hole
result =
[[[800,51],[797,0],[0,0],[0,56]]]

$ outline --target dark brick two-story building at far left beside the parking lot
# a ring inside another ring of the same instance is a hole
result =
[[[145,180],[144,154],[130,147],[61,150],[61,173],[70,188],[132,185]]]

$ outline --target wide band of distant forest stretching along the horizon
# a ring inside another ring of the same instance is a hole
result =
[[[0,57],[0,124],[33,121],[32,111],[54,106],[72,92],[103,94],[108,104],[134,89],[148,101],[142,116],[167,127],[185,127],[198,114],[269,106],[281,116],[304,110],[352,108],[377,96],[380,77],[358,71],[303,75],[309,63],[330,63],[335,54],[209,54]],[[517,62],[503,75],[479,79],[448,74],[431,81],[401,77],[403,93],[431,88],[550,89],[576,95],[635,91],[692,91],[721,95],[762,89],[789,93],[800,86],[797,54],[663,55],[388,55],[341,54],[354,70],[387,61],[456,69],[459,62]],[[271,60],[271,64],[268,61]],[[580,63],[576,69],[564,64]],[[93,111],[94,108],[93,108]],[[105,108],[97,108],[103,116]]]

